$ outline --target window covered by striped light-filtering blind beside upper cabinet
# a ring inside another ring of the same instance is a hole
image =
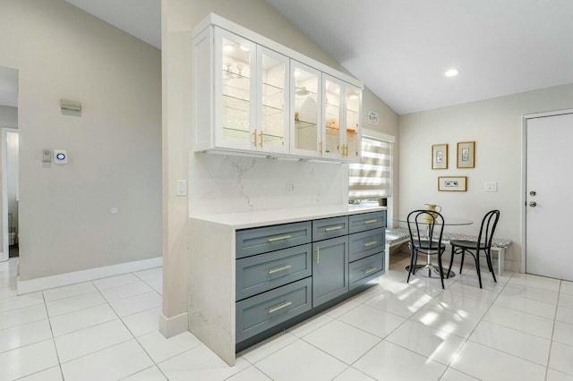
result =
[[[380,199],[392,193],[392,143],[362,138],[362,163],[351,164],[349,199]]]

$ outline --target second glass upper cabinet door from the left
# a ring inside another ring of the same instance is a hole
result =
[[[288,153],[288,58],[257,47],[257,149]]]

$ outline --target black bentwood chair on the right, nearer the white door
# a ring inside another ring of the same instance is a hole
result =
[[[497,283],[495,273],[492,266],[492,240],[495,227],[500,220],[500,211],[491,210],[483,216],[482,226],[480,233],[477,236],[477,241],[449,241],[451,244],[451,258],[449,259],[448,275],[451,270],[451,265],[454,262],[454,255],[461,254],[461,263],[459,265],[459,274],[462,274],[462,267],[464,267],[464,257],[466,252],[471,254],[475,259],[475,271],[477,272],[477,279],[480,281],[480,288],[482,288],[482,273],[480,271],[480,252],[483,251],[485,259],[487,260],[487,267],[493,275],[493,282]]]

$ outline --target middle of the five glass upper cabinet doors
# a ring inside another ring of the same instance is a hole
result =
[[[290,61],[291,150],[301,157],[320,157],[321,72]]]

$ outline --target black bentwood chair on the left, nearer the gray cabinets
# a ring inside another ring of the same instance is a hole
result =
[[[441,243],[444,231],[444,218],[438,212],[428,210],[414,210],[407,218],[408,231],[410,232],[410,267],[408,268],[407,282],[410,275],[419,271],[427,271],[432,276],[432,271],[440,274],[441,288],[444,287],[444,270],[441,266],[441,255],[446,250],[446,245]],[[433,238],[433,239],[432,239]],[[418,253],[425,255],[427,262],[417,265]],[[438,257],[438,267],[432,264],[432,256]]]

